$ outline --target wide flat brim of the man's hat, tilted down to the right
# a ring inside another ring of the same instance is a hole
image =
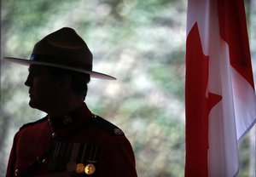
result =
[[[94,78],[116,80],[115,77],[109,76],[107,74],[103,74],[101,72],[86,71],[86,70],[79,69],[79,68],[74,68],[74,67],[70,67],[70,66],[61,66],[58,64],[52,64],[52,63],[47,63],[47,62],[42,62],[42,61],[33,61],[33,60],[26,60],[26,59],[13,58],[13,57],[3,57],[3,60],[8,60],[8,61],[23,65],[23,66],[30,66],[30,65],[52,66],[52,67],[57,67],[57,68],[65,69],[65,70],[86,73],[86,74],[89,74],[90,77],[94,77]]]

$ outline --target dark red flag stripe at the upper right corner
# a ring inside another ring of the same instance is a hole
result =
[[[229,44],[230,64],[254,88],[243,0],[218,0],[219,32]]]

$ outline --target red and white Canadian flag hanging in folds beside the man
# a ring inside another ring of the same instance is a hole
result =
[[[189,0],[186,49],[185,176],[236,176],[256,121],[243,0]]]

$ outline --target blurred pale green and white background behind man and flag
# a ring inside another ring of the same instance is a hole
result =
[[[255,2],[245,1],[254,71]],[[124,130],[138,176],[183,176],[186,10],[186,0],[2,0],[1,57],[27,59],[42,37],[73,27],[94,54],[94,70],[118,77],[92,79],[85,102]],[[15,132],[44,116],[27,105],[26,76],[26,66],[1,60],[0,177]],[[255,126],[240,151],[239,176],[255,176]]]

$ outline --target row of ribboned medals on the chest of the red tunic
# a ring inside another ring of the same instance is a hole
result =
[[[96,173],[98,145],[58,141],[49,166],[54,171],[92,175]]]

